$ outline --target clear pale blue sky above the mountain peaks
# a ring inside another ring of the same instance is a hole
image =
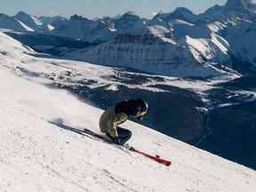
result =
[[[0,13],[13,16],[20,11],[39,17],[77,14],[88,19],[116,16],[135,12],[142,18],[152,19],[157,12],[172,12],[186,7],[198,14],[214,4],[224,5],[228,0],[0,0]],[[256,4],[256,0],[252,0]]]

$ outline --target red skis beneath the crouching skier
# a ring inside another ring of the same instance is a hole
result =
[[[96,132],[92,132],[92,131],[90,131],[90,130],[88,130],[88,129],[84,129],[84,132],[87,133],[87,134],[92,135],[93,137],[99,138],[100,140],[105,140],[105,141],[107,141],[107,142],[113,143],[112,140],[109,140],[109,139],[106,138],[105,136],[103,136],[103,135],[101,135],[101,134],[98,134],[98,133],[96,133]],[[124,145],[125,145],[125,144],[124,144]],[[124,146],[124,148],[127,148],[127,147]],[[156,155],[156,156],[151,156],[151,155],[148,155],[148,154],[146,154],[146,153],[144,153],[144,152],[141,152],[141,151],[139,151],[139,150],[137,150],[137,149],[135,149],[135,148],[133,148],[133,147],[130,147],[130,146],[129,146],[129,148],[127,148],[127,149],[130,150],[130,151],[136,152],[136,153],[138,153],[138,154],[140,154],[140,155],[142,155],[142,156],[146,156],[146,157],[148,157],[148,158],[150,158],[150,159],[156,161],[156,162],[159,163],[159,164],[164,164],[164,165],[166,165],[166,166],[170,166],[170,165],[172,164],[171,161],[164,160],[164,159],[160,158],[160,156],[158,156],[158,155]]]

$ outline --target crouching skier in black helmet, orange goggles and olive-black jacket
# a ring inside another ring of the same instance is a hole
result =
[[[148,111],[148,103],[145,100],[124,100],[105,110],[100,116],[100,132],[106,133],[116,145],[124,143],[132,137],[130,130],[119,127],[129,116],[142,121]]]

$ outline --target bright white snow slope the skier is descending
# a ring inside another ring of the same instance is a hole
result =
[[[0,44],[0,191],[255,191],[252,169],[131,121],[124,124],[133,133],[129,144],[171,160],[170,167],[50,124],[100,132],[103,111],[45,86],[36,74],[70,70],[103,84],[100,76],[113,69],[35,57],[2,33]],[[24,76],[25,69],[30,76]]]

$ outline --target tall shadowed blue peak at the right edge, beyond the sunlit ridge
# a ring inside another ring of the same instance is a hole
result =
[[[201,15],[223,24],[219,34],[228,43],[230,57],[222,62],[245,76],[255,76],[256,71],[256,54],[252,49],[256,35],[255,12],[256,4],[251,0],[228,0],[223,6],[215,5]]]

